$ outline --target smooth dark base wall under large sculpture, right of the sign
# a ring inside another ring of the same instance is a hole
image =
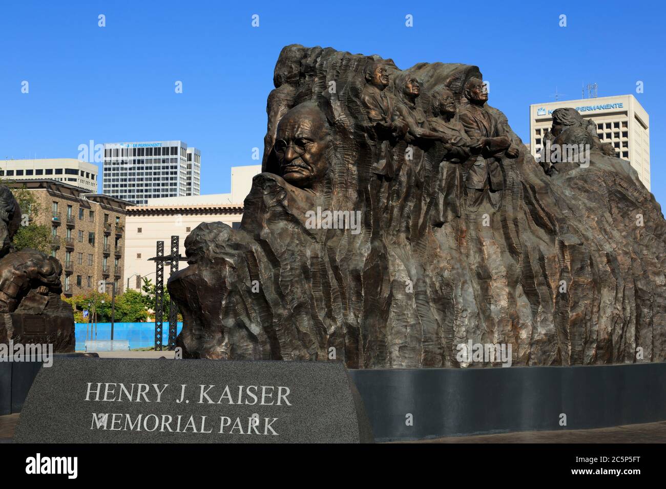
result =
[[[378,442],[666,420],[666,363],[349,372]]]

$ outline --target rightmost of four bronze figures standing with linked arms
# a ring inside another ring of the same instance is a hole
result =
[[[486,110],[488,91],[484,82],[471,78],[465,84],[463,95],[458,120],[472,140],[472,156],[464,164],[467,207],[471,211],[477,210],[488,196],[490,204],[497,210],[504,188],[500,160],[503,157],[517,158],[519,151],[511,144],[498,120]]]

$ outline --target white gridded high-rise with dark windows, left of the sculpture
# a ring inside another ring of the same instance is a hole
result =
[[[102,192],[134,204],[195,196],[200,191],[201,152],[182,141],[105,143],[102,171]]]

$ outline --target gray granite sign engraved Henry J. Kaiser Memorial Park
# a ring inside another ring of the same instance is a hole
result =
[[[15,442],[371,442],[342,363],[60,359]]]

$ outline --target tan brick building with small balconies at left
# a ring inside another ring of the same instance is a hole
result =
[[[125,202],[87,194],[55,180],[16,180],[13,188],[34,192],[41,209],[38,224],[51,228],[51,255],[63,265],[63,292],[70,297],[97,290],[101,280],[123,291]],[[111,287],[107,287],[111,293]]]

